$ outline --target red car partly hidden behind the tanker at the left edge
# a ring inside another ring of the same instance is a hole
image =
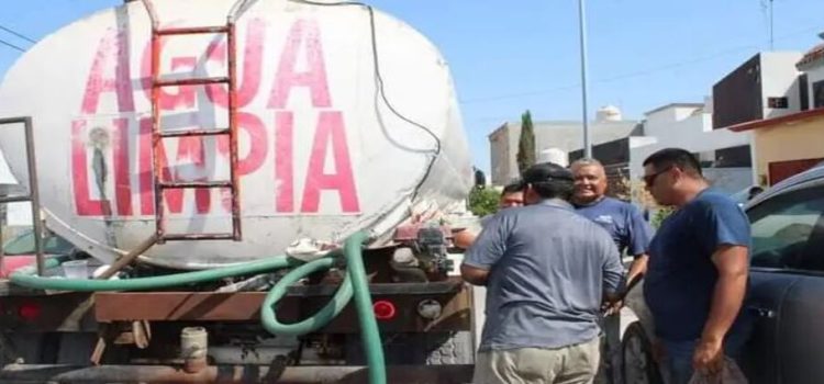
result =
[[[9,273],[35,262],[36,251],[34,249],[34,230],[31,228],[22,230],[3,244],[3,258],[0,260],[0,279],[5,279]],[[43,253],[69,255],[75,251],[75,246],[66,239],[47,234],[43,239]]]

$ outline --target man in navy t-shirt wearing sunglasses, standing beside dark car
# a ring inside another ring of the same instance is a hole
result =
[[[670,382],[693,370],[715,374],[743,338],[734,327],[747,290],[750,233],[744,211],[710,188],[687,150],[661,149],[644,161],[655,200],[676,211],[649,246],[644,297],[664,348]]]

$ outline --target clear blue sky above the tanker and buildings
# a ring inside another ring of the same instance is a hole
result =
[[[121,2],[9,1],[0,25],[36,39]],[[415,26],[446,56],[479,168],[489,169],[487,135],[526,109],[535,120],[580,120],[576,0],[369,2]],[[767,2],[589,0],[590,111],[614,104],[625,117],[641,118],[669,102],[701,101],[725,74],[769,48]],[[775,0],[773,7],[776,50],[820,42],[824,1]],[[0,39],[29,46],[3,31]],[[0,74],[19,55],[0,45]]]

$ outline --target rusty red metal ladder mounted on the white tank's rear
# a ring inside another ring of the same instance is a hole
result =
[[[162,29],[157,11],[152,0],[141,0],[152,21],[152,160],[155,192],[155,236],[158,244],[176,240],[234,240],[241,241],[241,201],[237,174],[237,69],[235,20],[246,0],[238,0],[226,18],[225,25]],[[165,36],[225,34],[227,49],[227,74],[223,77],[188,78],[177,80],[160,79],[160,39]],[[226,84],[229,87],[229,127],[175,129],[164,132],[160,126],[160,90],[165,87]],[[218,181],[164,181],[160,150],[163,140],[169,137],[229,136],[230,180]],[[212,234],[167,234],[163,192],[174,189],[229,189],[232,195],[232,233]]]

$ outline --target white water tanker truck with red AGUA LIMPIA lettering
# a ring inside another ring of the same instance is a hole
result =
[[[126,1],[23,54],[0,123],[44,236],[0,282],[0,382],[469,381],[470,155],[400,20]]]

